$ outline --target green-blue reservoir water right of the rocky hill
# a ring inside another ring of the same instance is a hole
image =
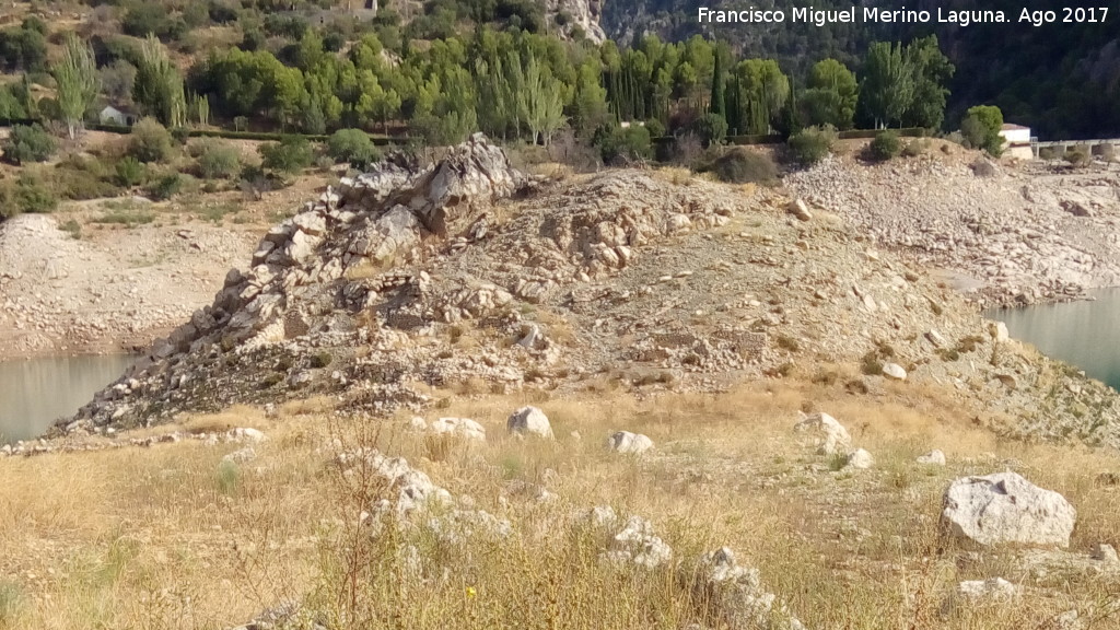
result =
[[[1120,390],[1120,289],[1094,294],[1095,302],[1071,302],[989,311],[1012,337],[1072,363]]]

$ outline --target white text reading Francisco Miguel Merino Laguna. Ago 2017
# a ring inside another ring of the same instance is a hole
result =
[[[709,9],[700,7],[698,20],[701,24],[806,24],[823,27],[830,24],[952,24],[961,27],[980,24],[1017,24],[1040,27],[1049,24],[1104,24],[1109,18],[1108,7],[1067,7],[1052,10],[1023,9],[1017,15],[1008,11],[970,9],[934,11],[880,9],[878,7],[850,7],[848,9],[814,9],[796,7],[788,11],[781,9],[741,10]]]

